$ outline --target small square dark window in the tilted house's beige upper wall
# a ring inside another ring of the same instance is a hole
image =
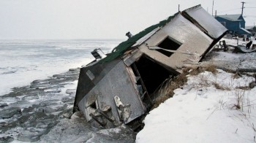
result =
[[[178,42],[175,39],[170,38],[170,36],[167,36],[159,45],[158,47],[162,47],[163,49],[166,50],[177,50],[178,47],[181,46],[181,43]],[[170,57],[170,55],[172,55],[172,52],[168,52],[166,50],[157,50],[159,53],[162,53],[164,55],[166,55],[167,57]]]

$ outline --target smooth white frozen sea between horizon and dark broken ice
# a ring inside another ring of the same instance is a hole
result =
[[[110,53],[121,40],[59,39],[0,40],[0,96],[11,88],[28,85],[89,63],[91,51]]]

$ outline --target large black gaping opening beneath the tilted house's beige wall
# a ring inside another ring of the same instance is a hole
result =
[[[149,58],[146,58],[146,56],[142,56],[140,60],[136,61],[134,64],[137,67],[138,72],[140,73],[140,77],[150,96],[152,93],[154,93],[155,90],[159,88],[159,85],[161,85],[162,82],[168,79],[172,74],[163,66],[160,66],[158,63],[151,61]],[[132,69],[135,71],[134,68]],[[134,73],[136,77],[139,77],[136,72]],[[137,85],[140,84],[141,82],[138,80]]]

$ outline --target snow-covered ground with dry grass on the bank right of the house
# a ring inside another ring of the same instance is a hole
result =
[[[236,40],[225,40],[236,45]],[[211,52],[206,61],[230,69],[255,68],[255,57]],[[250,82],[255,78],[234,77],[221,69],[216,75],[204,71],[188,76],[173,98],[149,112],[136,142],[256,142],[256,87],[248,88]]]

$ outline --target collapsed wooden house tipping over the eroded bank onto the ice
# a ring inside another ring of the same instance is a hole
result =
[[[144,115],[170,75],[199,62],[227,29],[200,5],[178,12],[135,36],[107,57],[80,69],[74,112],[95,126],[111,128]]]

